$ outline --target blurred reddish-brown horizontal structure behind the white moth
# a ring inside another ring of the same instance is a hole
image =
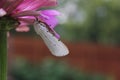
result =
[[[11,37],[9,57],[23,56],[38,62],[52,57],[66,60],[71,65],[90,72],[103,72],[115,75],[120,80],[120,47],[104,46],[94,43],[66,43],[70,54],[62,58],[51,55],[44,42],[30,37]]]

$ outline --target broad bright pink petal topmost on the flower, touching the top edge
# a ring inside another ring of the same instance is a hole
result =
[[[37,10],[44,6],[55,6],[56,0],[24,0],[24,2],[16,9],[17,11]]]

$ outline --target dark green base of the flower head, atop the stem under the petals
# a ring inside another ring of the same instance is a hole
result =
[[[5,30],[9,31],[19,25],[18,20],[12,18],[9,15],[0,17],[0,31]]]

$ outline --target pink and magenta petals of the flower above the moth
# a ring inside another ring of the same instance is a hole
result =
[[[29,31],[31,25],[37,17],[45,22],[51,29],[57,25],[56,16],[60,13],[56,10],[39,10],[43,7],[56,6],[56,0],[0,0],[0,18],[9,16],[17,20],[20,24],[17,31]],[[59,35],[56,33],[56,37]]]

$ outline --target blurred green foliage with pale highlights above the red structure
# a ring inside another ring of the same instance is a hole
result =
[[[68,41],[119,45],[119,3],[120,0],[59,0],[60,24],[55,29]],[[33,28],[26,34],[36,35]]]

